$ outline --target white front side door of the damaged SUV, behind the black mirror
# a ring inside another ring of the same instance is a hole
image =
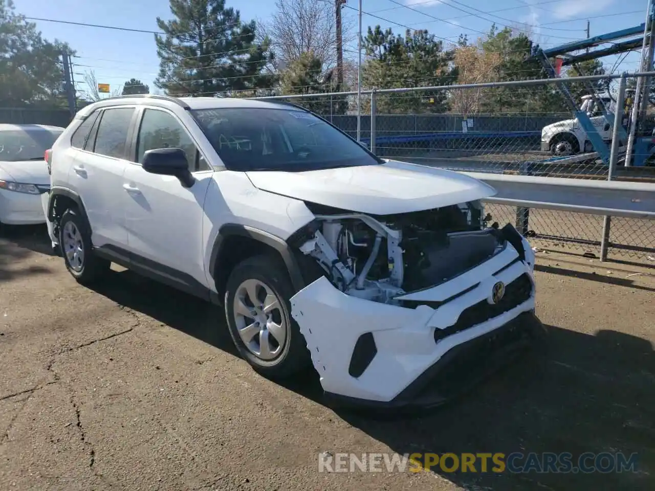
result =
[[[193,186],[187,189],[176,177],[143,170],[145,151],[160,148],[185,151],[196,178]],[[134,160],[126,168],[122,186],[128,198],[125,223],[132,260],[186,289],[198,283],[206,287],[203,204],[208,187],[215,186],[214,172],[178,117],[163,109],[144,109]]]

